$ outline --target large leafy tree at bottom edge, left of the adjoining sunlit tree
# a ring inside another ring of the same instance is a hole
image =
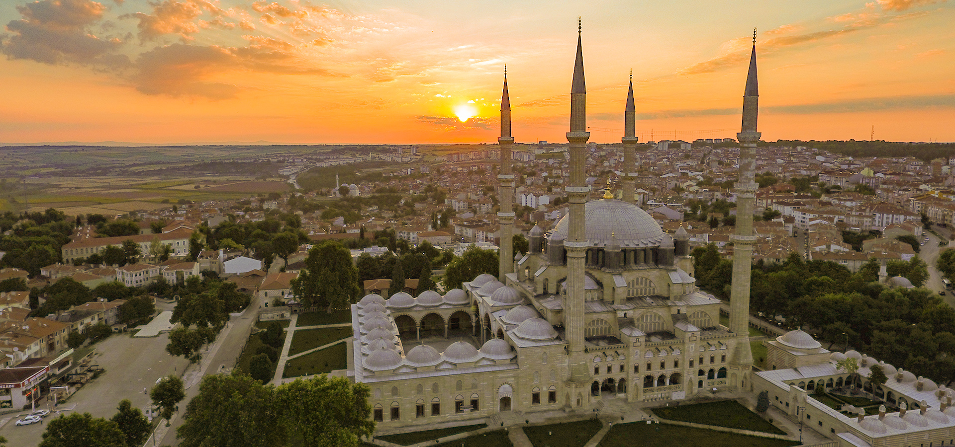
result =
[[[272,387],[251,376],[202,377],[199,394],[186,405],[176,430],[180,447],[285,446],[282,408],[274,397]]]

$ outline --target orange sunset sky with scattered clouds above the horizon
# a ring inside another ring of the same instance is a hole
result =
[[[590,141],[955,141],[944,0],[2,0],[0,142],[565,141],[584,23]],[[474,114],[466,121],[459,114]]]

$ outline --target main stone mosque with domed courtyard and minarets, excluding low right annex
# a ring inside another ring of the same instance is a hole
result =
[[[749,76],[748,94],[754,59]],[[664,233],[634,204],[632,82],[624,200],[608,191],[587,201],[584,98],[579,36],[567,133],[570,177],[563,187],[569,210],[546,233],[530,232],[529,253],[513,254],[502,244],[498,277],[481,274],[445,295],[367,295],[352,306],[349,374],[371,387],[379,428],[508,411],[592,414],[626,402],[752,388],[748,282],[731,316],[742,330],[732,331],[719,322],[719,301],[696,288],[689,234],[682,228]],[[749,122],[754,132],[754,118]],[[501,239],[508,240],[514,138],[506,73],[500,123],[499,221]],[[737,253],[746,242],[737,241]],[[748,280],[751,262],[745,262]]]

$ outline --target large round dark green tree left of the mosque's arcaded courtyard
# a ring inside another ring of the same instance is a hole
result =
[[[360,292],[349,250],[331,241],[312,247],[305,269],[292,280],[292,293],[305,307],[324,307],[329,313],[348,306]]]

